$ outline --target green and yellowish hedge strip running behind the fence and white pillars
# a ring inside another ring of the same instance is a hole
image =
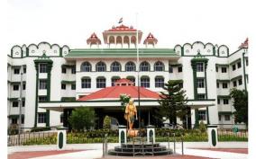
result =
[[[175,133],[175,137],[174,137]],[[118,143],[118,130],[96,129],[87,130],[84,133],[71,132],[67,135],[68,144],[87,144],[102,143],[103,138],[107,134],[108,143]],[[245,134],[245,133],[244,133]],[[142,129],[142,137],[146,136],[146,129]],[[128,138],[129,139],[129,138]],[[199,129],[168,129],[156,128],[156,142],[184,141],[184,142],[206,142],[208,140],[207,133],[201,132]],[[218,135],[219,141],[248,141],[247,135],[239,134],[222,134]],[[32,138],[27,140],[23,145],[55,145],[57,136]]]

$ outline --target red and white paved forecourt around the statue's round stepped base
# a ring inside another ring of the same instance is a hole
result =
[[[206,143],[186,143],[184,155],[181,155],[181,148],[178,146],[176,155],[162,155],[162,156],[135,156],[123,157],[105,155],[103,157],[101,144],[78,144],[67,145],[63,151],[56,151],[56,146],[21,146],[13,149],[8,149],[8,159],[126,159],[126,158],[157,158],[157,159],[207,159],[207,158],[221,158],[221,159],[246,159],[248,158],[248,148],[246,143],[232,144],[224,142],[219,145],[219,148],[200,148],[204,147]],[[164,145],[164,143],[162,143]],[[110,144],[109,149],[116,144]],[[228,147],[228,145],[230,147]],[[193,147],[193,148],[192,148]],[[206,147],[206,146],[205,146]],[[242,148],[239,148],[242,147]],[[69,149],[69,150],[68,150]]]

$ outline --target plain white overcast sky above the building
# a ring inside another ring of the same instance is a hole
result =
[[[87,48],[86,40],[92,32],[103,41],[102,31],[117,25],[121,17],[123,24],[137,28],[135,14],[138,13],[142,40],[151,32],[159,40],[160,48],[201,40],[225,44],[233,52],[250,38],[249,4],[242,2],[9,0],[5,51],[10,53],[16,44],[41,41],[67,44],[70,49]]]

